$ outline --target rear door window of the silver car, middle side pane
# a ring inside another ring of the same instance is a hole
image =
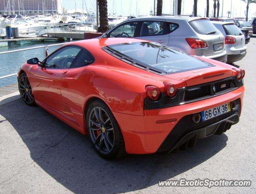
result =
[[[139,36],[157,36],[164,35],[163,21],[143,21]]]

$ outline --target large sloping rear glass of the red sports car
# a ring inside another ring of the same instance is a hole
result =
[[[134,66],[145,70],[150,68],[162,72],[163,74],[213,66],[195,57],[155,42],[128,42],[109,45],[107,48],[111,48],[111,52],[106,51],[106,48],[103,49],[113,56],[115,56],[115,52],[118,55],[122,55],[122,57],[119,57],[121,60],[124,59],[124,57],[128,57],[128,60],[124,59],[123,61],[130,61],[131,65],[139,63],[139,65]]]

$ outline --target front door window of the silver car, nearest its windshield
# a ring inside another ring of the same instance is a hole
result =
[[[109,34],[110,38],[113,37],[123,37],[123,38],[130,38],[134,37],[134,33],[136,30],[136,27],[138,25],[137,21],[130,22],[130,23],[124,23],[123,25],[115,28],[112,30]]]

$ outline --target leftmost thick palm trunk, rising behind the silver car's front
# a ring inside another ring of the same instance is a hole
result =
[[[98,0],[98,6],[100,16],[100,27],[98,27],[98,32],[104,33],[107,32],[107,30],[109,30],[107,0]]]

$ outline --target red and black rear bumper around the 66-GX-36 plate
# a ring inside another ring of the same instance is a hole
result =
[[[176,145],[177,141],[182,139],[184,135],[186,136],[186,134],[191,130],[200,129],[201,131],[207,128],[206,131],[208,131],[209,129],[212,129],[211,125],[214,125],[215,128],[219,128],[220,126],[215,124],[220,120],[226,119],[233,114],[240,115],[243,105],[243,93],[244,86],[229,93],[194,103],[156,110],[144,110],[144,116],[136,116],[120,112],[113,112],[113,114],[124,136],[127,153],[150,154],[155,152],[164,152],[170,151],[170,148],[175,148],[173,145]],[[237,101],[236,110],[212,118],[207,122],[193,122],[191,124],[192,114],[199,113],[231,101]],[[187,122],[186,118],[188,118],[190,122]],[[163,120],[167,122],[157,122]],[[235,124],[235,122],[233,124]],[[186,126],[186,128],[182,127],[182,125]],[[176,135],[173,135],[172,133],[174,129]],[[171,139],[171,143],[166,140],[170,134],[171,136],[175,136],[175,139]],[[166,144],[170,144],[171,146],[169,145],[166,147],[167,149],[163,149],[164,147],[162,147],[162,145],[164,142],[167,142]]]

